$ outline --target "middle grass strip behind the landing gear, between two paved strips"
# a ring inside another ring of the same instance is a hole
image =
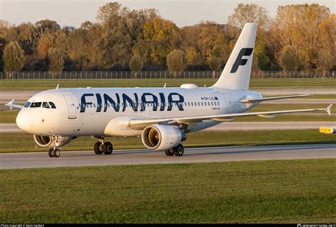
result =
[[[36,148],[33,135],[28,133],[1,133],[0,153],[46,151],[47,148]],[[325,135],[318,130],[302,131],[201,131],[190,133],[183,144],[195,146],[225,145],[262,145],[273,143],[336,143],[336,134]],[[19,143],[13,141],[19,140]],[[113,143],[114,149],[145,148],[141,138],[106,138]],[[93,150],[97,139],[89,136],[72,140],[60,150]]]

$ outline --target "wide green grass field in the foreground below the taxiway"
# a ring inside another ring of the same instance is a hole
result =
[[[1,223],[335,223],[336,160],[0,170]]]

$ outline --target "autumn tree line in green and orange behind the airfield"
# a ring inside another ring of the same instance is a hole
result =
[[[335,70],[335,13],[319,4],[279,6],[276,17],[257,4],[238,4],[227,24],[179,28],[155,9],[101,6],[97,23],[79,28],[42,20],[11,26],[0,21],[0,70],[219,70],[242,27],[257,22],[253,70]]]

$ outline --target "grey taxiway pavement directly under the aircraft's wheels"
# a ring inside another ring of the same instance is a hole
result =
[[[95,155],[93,150],[64,151],[60,157],[48,157],[47,152],[1,153],[0,169],[315,158],[336,158],[336,143],[185,148],[182,157],[153,150],[115,150],[112,155]]]

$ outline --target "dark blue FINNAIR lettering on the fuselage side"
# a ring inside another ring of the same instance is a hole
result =
[[[87,101],[91,99],[91,101]],[[167,101],[166,101],[167,100]],[[145,111],[146,106],[152,108],[153,111],[172,111],[173,106],[177,106],[179,111],[184,111],[182,104],[184,103],[184,96],[176,92],[169,93],[167,97],[163,93],[156,96],[152,93],[143,93],[138,96],[134,93],[132,97],[127,94],[114,94],[113,98],[108,94],[83,94],[81,97],[81,113],[86,111],[86,107],[92,104],[96,106],[96,112],[106,112],[108,108],[113,108],[114,111],[125,111],[126,107],[130,107],[133,111]]]

